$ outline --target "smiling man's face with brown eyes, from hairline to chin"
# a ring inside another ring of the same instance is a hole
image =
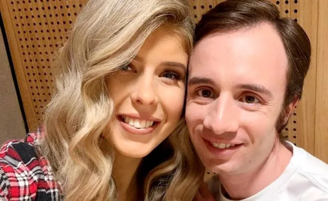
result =
[[[254,171],[278,140],[288,61],[268,23],[203,38],[190,60],[186,120],[211,171]]]

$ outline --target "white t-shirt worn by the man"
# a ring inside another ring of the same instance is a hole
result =
[[[291,142],[293,156],[282,175],[257,194],[241,201],[328,201],[328,164]],[[222,195],[218,177],[208,182],[216,201]]]

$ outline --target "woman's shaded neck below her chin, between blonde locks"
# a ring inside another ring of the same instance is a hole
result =
[[[115,155],[112,176],[116,183],[118,201],[134,201],[137,195],[135,173],[141,158]]]

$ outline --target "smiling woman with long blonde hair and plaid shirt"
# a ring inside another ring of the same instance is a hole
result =
[[[55,66],[43,127],[0,151],[0,198],[191,201],[187,0],[90,0]]]

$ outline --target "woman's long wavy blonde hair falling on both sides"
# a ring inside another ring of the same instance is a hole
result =
[[[39,151],[60,182],[65,201],[115,201],[114,150],[103,132],[114,116],[106,79],[129,64],[146,38],[166,25],[193,48],[188,0],[90,0],[80,12],[54,67],[56,93],[44,117]],[[185,120],[142,159],[138,200],[192,201],[203,177]]]

